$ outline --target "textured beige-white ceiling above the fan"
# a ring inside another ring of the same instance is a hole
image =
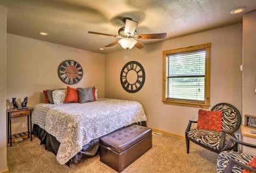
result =
[[[256,9],[256,0],[0,0],[0,4],[8,7],[11,34],[103,54],[123,49],[116,44],[99,50],[118,38],[87,32],[118,34],[123,17],[139,22],[138,34],[166,32],[168,39],[240,23],[243,14],[230,15],[230,10]],[[160,40],[142,42],[154,41]]]

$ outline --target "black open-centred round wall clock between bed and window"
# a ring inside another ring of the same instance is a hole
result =
[[[136,93],[144,85],[145,77],[143,66],[138,62],[132,61],[124,65],[120,74],[120,81],[124,90],[129,93]]]

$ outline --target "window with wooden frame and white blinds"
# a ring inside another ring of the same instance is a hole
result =
[[[163,51],[163,102],[208,108],[210,43]]]

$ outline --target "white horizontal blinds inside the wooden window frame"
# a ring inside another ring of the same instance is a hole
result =
[[[205,50],[166,56],[167,97],[204,102]]]

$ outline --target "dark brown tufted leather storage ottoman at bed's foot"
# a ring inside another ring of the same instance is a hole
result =
[[[131,125],[100,139],[102,163],[121,172],[152,148],[152,130]]]

